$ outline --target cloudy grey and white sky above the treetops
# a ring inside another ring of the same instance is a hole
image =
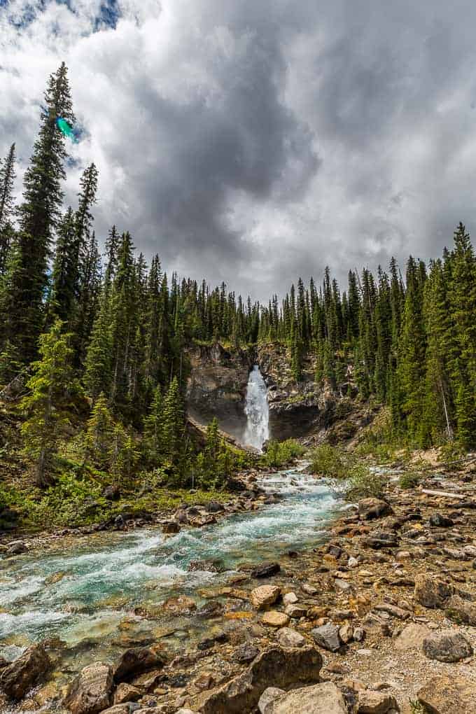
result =
[[[18,190],[64,60],[116,223],[255,298],[326,264],[430,258],[474,226],[471,0],[0,0],[0,152]]]

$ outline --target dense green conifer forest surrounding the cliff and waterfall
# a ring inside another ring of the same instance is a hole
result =
[[[160,467],[182,485],[193,472],[216,486],[243,466],[216,422],[201,449],[185,436],[193,343],[285,343],[296,383],[310,353],[318,383],[335,388],[350,374],[358,399],[388,406],[396,440],[476,446],[476,256],[462,223],[440,258],[410,256],[403,275],[392,259],[376,275],[349,271],[341,287],[326,268],[322,284],[299,279],[260,304],[168,274],[159,256],[148,264],[133,227],[113,217],[98,240],[95,164],[65,211],[57,116],[74,124],[64,64],[48,81],[18,205],[14,144],[0,164],[0,396],[24,388],[21,437],[37,486],[51,483],[65,440],[93,468]]]

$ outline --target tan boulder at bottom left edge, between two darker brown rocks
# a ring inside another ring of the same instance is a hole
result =
[[[83,668],[71,682],[64,705],[72,714],[98,714],[111,704],[112,689],[111,666],[94,662]]]

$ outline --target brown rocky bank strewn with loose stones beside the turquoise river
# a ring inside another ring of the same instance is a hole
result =
[[[261,534],[265,547],[255,532],[240,562],[214,575],[202,558],[191,566],[205,573],[202,582],[188,593],[175,584],[156,613],[132,616],[122,605],[115,650],[78,643],[65,660],[61,638],[45,637],[13,663],[0,662],[3,711],[475,714],[473,474],[402,491],[390,472],[385,500],[343,511],[325,537],[333,508],[320,503],[318,516],[309,501],[319,498],[305,496],[303,511],[303,477],[283,478],[295,491],[285,526]],[[321,488],[328,493],[325,482]],[[257,521],[286,498],[264,506]],[[233,520],[226,523],[233,531]],[[197,620],[202,628],[191,626]]]

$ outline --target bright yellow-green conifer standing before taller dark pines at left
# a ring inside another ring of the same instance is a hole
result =
[[[26,452],[36,461],[36,485],[42,488],[49,484],[48,470],[69,424],[69,397],[79,391],[71,368],[71,336],[61,333],[62,326],[57,320],[49,332],[40,336],[40,359],[33,363],[33,376],[26,385],[30,393],[21,401],[28,417],[21,425],[21,433]]]

